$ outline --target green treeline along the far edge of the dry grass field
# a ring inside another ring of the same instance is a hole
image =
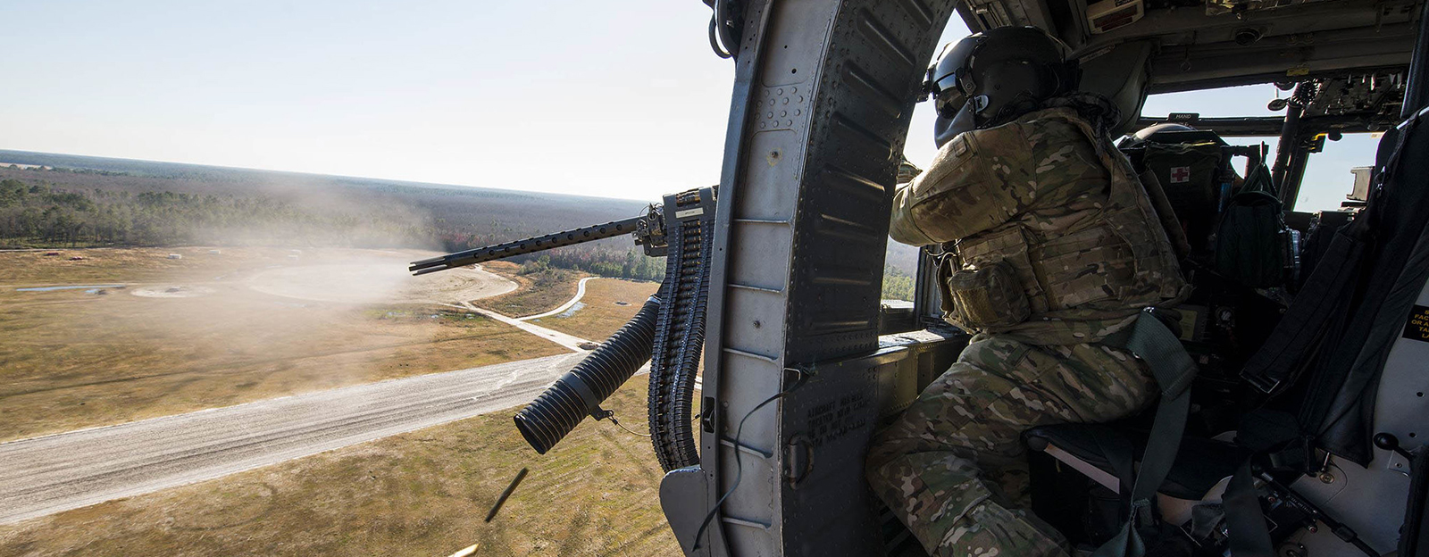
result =
[[[520,199],[520,194],[512,197]],[[480,207],[476,204],[464,204],[469,211],[466,219],[460,219],[462,213],[456,207],[446,209],[450,211],[446,217],[432,217],[427,211],[390,200],[357,201],[349,196],[346,201],[340,206],[303,203],[300,199],[237,194],[231,190],[77,190],[3,179],[0,247],[440,246],[446,251],[460,251],[534,236],[537,230],[550,231],[549,223],[520,220],[524,214],[522,211],[512,211],[506,219],[486,214],[477,217]],[[627,239],[610,239],[516,257],[513,261],[534,270],[564,269],[604,277],[662,280],[664,260],[646,257],[630,246]]]

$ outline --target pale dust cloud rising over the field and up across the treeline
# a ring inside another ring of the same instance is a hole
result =
[[[374,370],[392,360],[383,347],[439,341],[453,334],[443,320],[463,318],[452,306],[516,288],[479,269],[413,277],[410,261],[437,254],[426,210],[302,176],[252,187],[272,214],[196,230],[209,246],[131,287],[151,307],[124,321],[190,361],[312,367],[312,386],[284,390],[324,388],[392,371]]]

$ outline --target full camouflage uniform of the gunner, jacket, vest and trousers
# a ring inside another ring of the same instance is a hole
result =
[[[935,556],[1062,556],[1029,510],[1023,430],[1107,421],[1155,380],[1097,344],[1187,293],[1130,164],[1072,109],[965,133],[897,190],[890,234],[945,243],[946,317],[977,331],[869,451],[869,481]]]

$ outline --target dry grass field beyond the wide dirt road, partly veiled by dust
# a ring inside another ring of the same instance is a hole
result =
[[[492,284],[409,280],[412,256],[0,253],[0,440],[564,351],[436,304]],[[91,288],[17,290],[49,286]]]

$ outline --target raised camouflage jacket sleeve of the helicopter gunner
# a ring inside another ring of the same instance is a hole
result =
[[[1036,197],[1026,124],[963,133],[893,196],[889,236],[910,246],[953,241],[1003,224]]]

